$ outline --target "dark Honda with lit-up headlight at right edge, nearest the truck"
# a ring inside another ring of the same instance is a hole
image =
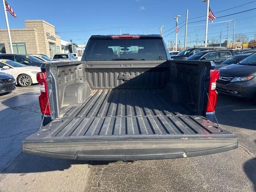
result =
[[[256,101],[256,53],[219,69],[218,92]]]

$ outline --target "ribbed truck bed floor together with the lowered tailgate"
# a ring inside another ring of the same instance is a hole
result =
[[[238,139],[161,89],[98,89],[80,105],[63,106],[22,143],[40,156],[76,160],[145,160],[212,154]]]

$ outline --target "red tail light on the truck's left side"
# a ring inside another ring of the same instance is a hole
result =
[[[47,88],[47,76],[46,72],[38,72],[36,74],[36,80],[40,84],[40,95],[39,95],[39,104],[42,114],[50,115],[50,104],[48,102],[49,94]]]

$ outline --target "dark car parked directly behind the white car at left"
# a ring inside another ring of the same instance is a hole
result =
[[[27,54],[0,54],[0,59],[12,60],[26,66],[40,67],[42,65],[42,60]]]

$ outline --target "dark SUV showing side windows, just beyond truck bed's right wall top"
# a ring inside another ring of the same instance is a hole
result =
[[[196,61],[213,61],[216,66],[223,60],[236,55],[232,49],[225,50],[207,50],[200,51],[192,56],[186,58],[186,60],[196,60]]]

